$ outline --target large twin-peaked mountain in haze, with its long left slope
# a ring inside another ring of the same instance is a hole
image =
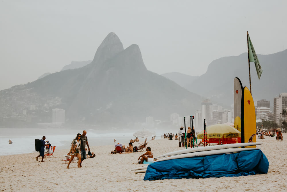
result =
[[[169,120],[172,113],[190,115],[201,101],[201,96],[148,71],[137,45],[123,49],[117,35],[109,33],[90,64],[0,91],[0,105],[5,106],[0,115],[36,105],[41,111],[64,108],[68,122],[126,126],[148,116]]]

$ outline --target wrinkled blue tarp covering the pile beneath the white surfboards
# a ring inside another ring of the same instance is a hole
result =
[[[269,162],[259,150],[154,162],[144,180],[233,177],[268,172]]]

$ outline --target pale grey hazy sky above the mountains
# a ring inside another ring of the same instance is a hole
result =
[[[214,59],[247,52],[247,30],[257,54],[287,49],[286,7],[287,1],[4,0],[0,90],[92,60],[109,32],[124,48],[139,45],[152,72],[201,75]]]

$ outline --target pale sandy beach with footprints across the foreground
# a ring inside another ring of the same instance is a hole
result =
[[[287,138],[287,134],[283,136]],[[35,157],[39,154],[36,151],[0,156],[0,191],[286,191],[286,140],[265,138],[257,139],[257,142],[263,142],[260,148],[269,161],[268,174],[144,181],[144,173],[134,174],[131,171],[142,166],[134,163],[144,152],[111,155],[114,145],[90,147],[96,153],[95,158],[84,160],[82,168],[71,163],[67,169],[63,155],[69,149],[57,150],[56,147],[55,158],[45,158],[44,163],[36,162]],[[148,142],[154,157],[183,149],[178,147],[177,140]],[[123,144],[127,146],[127,143]],[[135,142],[133,146],[138,143],[141,142]]]

